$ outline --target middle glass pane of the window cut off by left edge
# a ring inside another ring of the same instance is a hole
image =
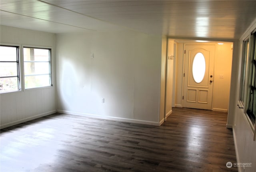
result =
[[[0,77],[1,76],[17,76],[17,63],[16,62],[0,62]]]

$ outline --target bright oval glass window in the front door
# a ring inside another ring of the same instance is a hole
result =
[[[206,62],[204,55],[198,52],[192,62],[192,76],[196,83],[200,83],[204,79],[205,69]]]

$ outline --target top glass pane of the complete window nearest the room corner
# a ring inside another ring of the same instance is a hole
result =
[[[24,61],[50,61],[48,49],[23,48]]]

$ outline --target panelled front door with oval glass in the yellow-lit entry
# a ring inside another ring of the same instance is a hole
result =
[[[186,45],[183,107],[212,109],[214,45]]]

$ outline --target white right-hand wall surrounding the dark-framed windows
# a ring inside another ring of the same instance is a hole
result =
[[[252,163],[252,167],[239,167],[240,172],[255,172],[256,171],[256,141],[253,141],[254,133],[248,119],[246,118],[245,109],[238,108],[237,104],[240,104],[239,101],[239,88],[240,88],[240,76],[241,76],[241,63],[242,63],[242,42],[243,40],[250,35],[256,28],[256,20],[251,24],[248,30],[244,33],[242,38],[240,39],[239,44],[239,53],[236,60],[236,72],[232,76],[236,77],[234,84],[236,86],[235,91],[233,92],[232,99],[234,101],[230,101],[230,106],[233,107],[233,114],[229,114],[230,118],[234,118],[233,123],[233,134],[234,134],[234,142],[236,148],[236,157],[239,163]],[[236,74],[238,73],[238,74]],[[236,74],[236,75],[235,75]],[[241,104],[240,104],[241,106]],[[232,121],[232,119],[230,119]]]

